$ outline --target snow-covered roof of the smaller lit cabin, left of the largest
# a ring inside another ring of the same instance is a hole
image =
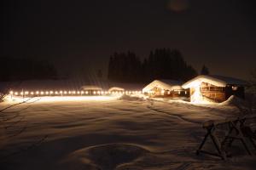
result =
[[[148,84],[148,86],[146,86],[145,88],[143,88],[143,92],[148,92],[150,90],[152,90],[153,88],[162,88],[165,90],[176,90],[176,89],[182,89],[181,87],[182,82],[177,82],[175,80],[155,80],[154,82],[151,82]]]

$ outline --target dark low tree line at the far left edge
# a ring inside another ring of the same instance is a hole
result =
[[[2,57],[0,81],[23,81],[31,79],[52,79],[57,73],[54,65],[46,60]]]

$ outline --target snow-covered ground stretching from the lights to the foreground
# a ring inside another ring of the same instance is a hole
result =
[[[19,102],[4,102],[0,108]],[[139,97],[30,99],[3,111],[1,169],[255,169],[237,143],[228,161],[195,155],[207,120],[232,105]],[[209,144],[210,145],[210,144]],[[255,153],[255,150],[254,150]]]

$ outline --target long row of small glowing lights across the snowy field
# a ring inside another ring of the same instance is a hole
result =
[[[79,94],[79,95],[83,95],[83,94],[90,94],[89,91],[36,91],[36,92],[14,92],[14,91],[10,91],[9,92],[10,95],[67,95],[67,94]],[[92,94],[98,94],[98,95],[102,95],[102,94],[142,94],[141,91],[122,91],[122,92],[108,92],[108,91],[92,91]]]

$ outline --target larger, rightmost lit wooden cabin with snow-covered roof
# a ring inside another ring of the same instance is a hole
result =
[[[244,99],[245,85],[245,81],[233,77],[201,75],[185,82],[182,87],[189,89],[191,102],[220,103],[229,99],[231,95]]]

